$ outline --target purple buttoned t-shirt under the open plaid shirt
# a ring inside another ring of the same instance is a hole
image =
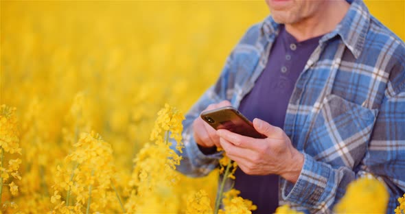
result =
[[[283,128],[286,110],[295,82],[321,36],[297,42],[281,27],[268,56],[266,68],[252,91],[241,101],[239,110],[251,121],[256,117]],[[278,176],[248,176],[238,168],[235,189],[240,196],[253,201],[258,209],[253,213],[274,213],[278,201]]]

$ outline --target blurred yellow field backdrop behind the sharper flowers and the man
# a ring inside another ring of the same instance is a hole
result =
[[[405,39],[405,1],[366,3]],[[111,143],[124,189],[157,111],[169,103],[187,112],[268,13],[264,1],[1,1],[0,104],[17,108],[23,147],[17,201],[36,194],[21,211],[47,209],[75,132]],[[205,179],[185,185],[212,198],[216,175]]]

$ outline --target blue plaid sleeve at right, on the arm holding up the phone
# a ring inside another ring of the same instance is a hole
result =
[[[384,180],[390,199],[387,213],[393,213],[405,191],[405,69],[388,84],[385,98],[371,133],[367,151],[355,169],[332,167],[305,154],[301,174],[295,184],[281,179],[281,197],[311,212],[327,213],[343,197],[347,185],[363,172]],[[398,69],[398,67],[396,68]]]

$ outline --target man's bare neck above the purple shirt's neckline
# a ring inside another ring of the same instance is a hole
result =
[[[299,23],[286,24],[286,31],[298,41],[332,32],[350,8],[347,1],[325,1],[323,9]]]

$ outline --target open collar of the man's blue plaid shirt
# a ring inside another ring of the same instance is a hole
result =
[[[350,1],[348,2],[350,3]],[[319,43],[325,43],[339,35],[354,57],[358,58],[363,49],[369,24],[370,13],[367,6],[361,0],[354,0],[343,20],[332,32],[325,34]],[[277,35],[278,32],[279,24],[274,21],[272,16],[268,16],[262,24],[262,33],[268,37],[269,35]]]

